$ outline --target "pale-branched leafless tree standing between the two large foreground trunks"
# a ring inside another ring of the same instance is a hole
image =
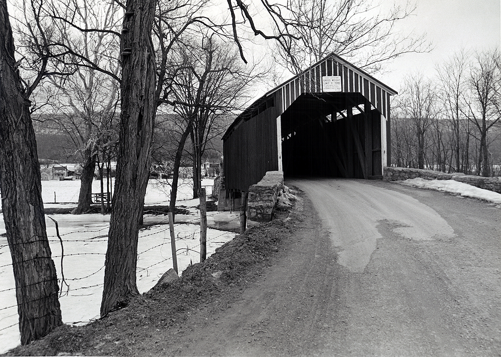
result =
[[[109,145],[114,136],[113,119],[119,103],[116,78],[120,67],[115,59],[119,51],[118,38],[113,32],[122,14],[113,2],[72,0],[64,2],[64,6],[58,3],[52,3],[49,14],[62,33],[59,45],[93,63],[93,66],[82,65],[85,62],[76,55],[68,56],[75,68],[74,75],[51,78],[51,83],[62,94],[56,103],[62,118],[58,122],[77,144],[83,161],[78,207],[73,211],[81,214],[88,211],[92,203],[96,158],[103,156],[101,148]]]

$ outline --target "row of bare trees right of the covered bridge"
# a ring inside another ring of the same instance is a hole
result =
[[[393,165],[501,175],[499,49],[459,52],[434,78],[409,75],[392,106]]]

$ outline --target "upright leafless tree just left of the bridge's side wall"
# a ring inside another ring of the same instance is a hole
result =
[[[196,47],[180,49],[183,62],[189,65],[178,71],[172,85],[174,110],[191,125],[194,198],[207,146],[224,131],[228,116],[248,101],[246,88],[261,75],[255,66],[243,66],[227,44],[206,36],[201,41]]]

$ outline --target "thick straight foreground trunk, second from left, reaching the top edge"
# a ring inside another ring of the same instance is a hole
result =
[[[121,38],[122,85],[115,196],[110,218],[101,316],[128,304],[136,286],[139,220],[151,165],[155,59],[154,0],[127,0]]]

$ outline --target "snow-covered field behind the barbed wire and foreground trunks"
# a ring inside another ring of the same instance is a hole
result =
[[[45,207],[75,207],[78,201],[79,181],[43,181],[42,195]],[[99,192],[99,183],[94,183],[93,192]],[[96,185],[97,184],[97,185]],[[212,180],[204,180],[202,185],[212,185]],[[181,186],[178,197],[191,198],[191,187]],[[210,193],[210,188],[207,188]],[[58,202],[73,204],[54,204],[54,192]],[[170,187],[163,188],[150,182],[146,193],[146,204],[167,204]],[[51,201],[52,200],[52,201]],[[45,204],[52,202],[52,204]],[[179,202],[188,207],[189,215],[177,215],[174,225],[179,272],[190,262],[199,261],[199,211],[194,208],[198,200]],[[228,212],[208,212],[209,227],[238,227],[238,214]],[[52,255],[58,277],[64,273],[69,288],[63,284],[60,297],[63,321],[68,324],[85,324],[99,317],[101,304],[104,259],[107,247],[107,234],[110,216],[89,215],[50,215],[59,224],[64,242],[63,269],[61,269],[61,245],[56,235],[54,222],[46,217]],[[147,226],[139,232],[137,285],[140,292],[148,291],[161,275],[172,268],[172,252],[167,216],[145,215]],[[0,234],[5,233],[4,220],[0,220]],[[207,256],[215,248],[233,239],[234,233],[209,228],[207,230]],[[20,343],[18,313],[16,306],[15,283],[12,260],[7,238],[0,237],[0,353]],[[60,280],[61,283],[61,280]]]

